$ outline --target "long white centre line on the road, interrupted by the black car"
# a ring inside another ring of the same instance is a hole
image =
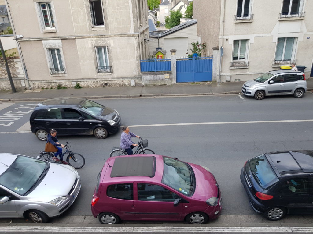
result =
[[[313,119],[267,120],[267,121],[238,121],[238,122],[207,122],[207,123],[181,123],[181,124],[143,124],[143,125],[128,125],[128,127],[132,127],[133,128],[133,127],[158,127],[158,126],[203,125],[203,124],[264,124],[264,123],[292,123],[292,122],[313,122]],[[25,125],[26,124],[24,124],[23,126],[25,126]],[[121,128],[122,127],[123,126],[121,126]],[[30,132],[32,132],[32,131],[0,132],[0,134],[30,133]]]

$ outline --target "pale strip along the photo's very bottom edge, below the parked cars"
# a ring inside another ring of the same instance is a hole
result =
[[[114,225],[114,224],[112,224]],[[313,232],[313,227],[49,227],[49,226],[36,226],[36,227],[1,227],[2,232]]]

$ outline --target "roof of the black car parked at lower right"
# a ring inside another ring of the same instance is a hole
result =
[[[267,153],[279,173],[313,173],[313,151],[292,150]]]

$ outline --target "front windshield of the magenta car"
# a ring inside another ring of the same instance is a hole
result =
[[[162,183],[185,195],[192,195],[195,187],[195,178],[188,163],[174,158],[163,157],[164,171]]]

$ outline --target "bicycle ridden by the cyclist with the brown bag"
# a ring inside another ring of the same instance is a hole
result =
[[[63,157],[65,157],[65,155],[67,154],[66,156],[66,162],[76,168],[76,169],[79,169],[79,168],[82,168],[84,165],[85,165],[85,158],[83,155],[81,154],[77,154],[77,153],[73,153],[72,150],[69,150],[71,148],[69,142],[67,141],[66,144],[64,145],[64,148],[66,149],[65,152],[62,154]],[[40,158],[40,159],[43,159],[47,162],[50,162],[50,163],[61,163],[61,161],[54,161],[52,158],[54,157],[54,152],[45,152],[45,151],[40,151],[40,155],[37,156],[37,158]]]

